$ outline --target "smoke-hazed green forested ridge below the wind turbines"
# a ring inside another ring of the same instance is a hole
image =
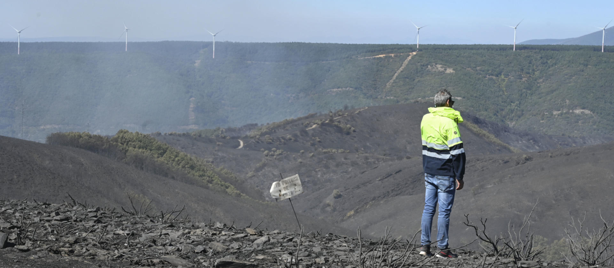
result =
[[[213,59],[211,42],[16,45],[0,43],[0,135],[34,141],[266,124],[444,87],[458,110],[521,130],[614,132],[612,48],[217,42]]]

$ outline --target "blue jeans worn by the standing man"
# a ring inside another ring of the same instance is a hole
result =
[[[435,176],[424,173],[426,195],[424,196],[424,212],[422,212],[421,244],[430,244],[430,229],[433,225],[435,206],[439,204],[439,217],[437,218],[437,247],[441,250],[448,248],[448,229],[450,214],[456,193],[456,179],[451,176]]]

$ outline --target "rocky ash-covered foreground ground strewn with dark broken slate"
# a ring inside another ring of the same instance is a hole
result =
[[[34,231],[36,230],[36,231]],[[332,233],[289,233],[257,226],[203,223],[170,217],[146,217],[81,206],[0,201],[1,267],[356,267],[379,256],[378,240]],[[18,239],[18,237],[20,237]],[[299,243],[300,241],[300,243]],[[384,253],[393,261],[418,267],[568,267],[564,262],[515,261],[456,250],[460,258],[438,259],[406,251],[407,242],[387,240]],[[390,251],[387,249],[390,248]],[[376,253],[373,253],[376,252]],[[407,253],[406,253],[407,252]],[[402,258],[405,257],[405,258]]]

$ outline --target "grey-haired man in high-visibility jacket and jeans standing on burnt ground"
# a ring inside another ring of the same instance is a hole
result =
[[[430,229],[439,204],[437,218],[437,257],[456,258],[458,255],[448,249],[450,213],[454,204],[454,193],[463,187],[465,174],[465,149],[461,141],[458,123],[461,113],[452,108],[454,101],[447,90],[435,94],[435,108],[422,117],[422,165],[426,196],[422,212],[422,236],[420,255],[430,256]]]

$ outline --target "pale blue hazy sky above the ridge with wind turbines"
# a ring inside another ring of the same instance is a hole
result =
[[[0,39],[99,37],[235,42],[511,43],[577,37],[614,18],[614,1],[0,1]],[[610,26],[608,26],[609,28]]]

